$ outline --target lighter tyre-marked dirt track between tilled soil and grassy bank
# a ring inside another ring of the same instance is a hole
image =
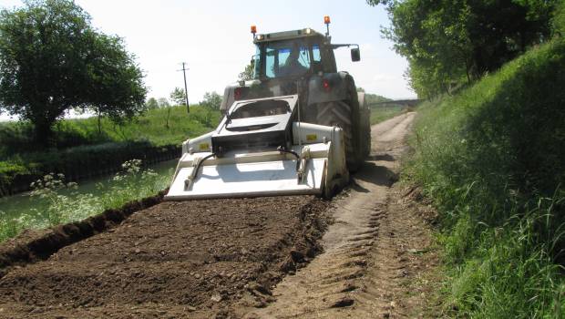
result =
[[[334,201],[324,253],[273,290],[277,299],[248,318],[389,318],[426,316],[430,252],[426,210],[391,188],[406,153],[414,113],[373,127],[372,157]]]

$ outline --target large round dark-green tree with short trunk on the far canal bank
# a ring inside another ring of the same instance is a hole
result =
[[[99,33],[70,0],[28,0],[0,11],[0,108],[31,121],[47,145],[70,108],[115,121],[145,110],[147,88],[118,36]]]

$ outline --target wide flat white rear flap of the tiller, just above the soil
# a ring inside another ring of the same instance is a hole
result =
[[[192,161],[197,159],[200,158],[195,159],[190,154],[181,159],[188,165],[178,170],[166,200],[321,194],[327,161],[319,158],[305,162],[301,182],[298,182],[296,159],[289,154],[231,154],[204,161],[196,172],[198,164]],[[185,187],[185,180],[190,180],[190,188]]]

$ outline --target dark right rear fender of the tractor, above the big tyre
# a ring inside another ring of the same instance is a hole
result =
[[[353,77],[347,72],[313,75],[308,81],[308,105],[347,99]]]

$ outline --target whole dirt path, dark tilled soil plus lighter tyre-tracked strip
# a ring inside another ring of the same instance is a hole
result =
[[[413,118],[373,128],[371,160],[334,201],[160,203],[5,270],[0,317],[412,315],[426,285],[411,282],[434,257],[419,253],[426,226],[390,186]]]

